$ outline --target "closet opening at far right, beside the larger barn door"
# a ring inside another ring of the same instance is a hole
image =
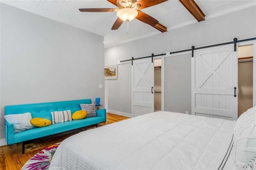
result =
[[[238,117],[253,106],[253,45],[238,47]]]

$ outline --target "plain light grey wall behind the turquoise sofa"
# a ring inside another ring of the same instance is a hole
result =
[[[104,105],[103,36],[5,4],[0,9],[0,144],[6,105],[95,97]]]

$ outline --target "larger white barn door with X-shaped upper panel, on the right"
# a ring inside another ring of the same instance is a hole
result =
[[[234,44],[195,50],[191,64],[192,115],[236,120],[238,54]]]

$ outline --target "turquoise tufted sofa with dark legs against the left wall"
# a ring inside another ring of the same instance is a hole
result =
[[[52,121],[52,111],[71,110],[71,113],[73,114],[75,111],[81,110],[80,104],[82,103],[91,104],[91,99],[6,106],[5,115],[30,112],[32,118],[41,117]],[[43,137],[51,137],[55,134],[61,134],[62,132],[67,131],[73,132],[76,130],[82,130],[82,128],[91,125],[98,127],[99,123],[106,121],[106,109],[96,110],[96,113],[97,117],[88,117],[81,120],[56,123],[47,127],[32,128],[18,133],[14,133],[13,124],[9,124],[5,121],[6,142],[8,145],[22,142],[22,154],[24,154],[24,145],[31,143],[34,139],[43,139]]]

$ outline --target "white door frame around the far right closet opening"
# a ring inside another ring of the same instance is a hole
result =
[[[256,40],[237,43],[239,46],[253,45],[253,80],[252,80],[252,105],[256,106]]]

